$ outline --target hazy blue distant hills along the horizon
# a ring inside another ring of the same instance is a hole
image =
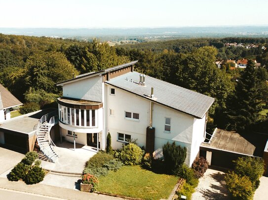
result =
[[[268,37],[268,26],[179,27],[127,29],[0,28],[2,34],[87,39],[99,38],[191,38],[191,37]]]

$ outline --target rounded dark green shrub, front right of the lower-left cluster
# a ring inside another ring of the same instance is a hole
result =
[[[41,182],[44,179],[45,173],[42,168],[34,166],[26,174],[24,181],[26,184],[36,184]]]

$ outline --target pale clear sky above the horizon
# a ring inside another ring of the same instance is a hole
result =
[[[268,0],[0,0],[0,27],[268,25]]]

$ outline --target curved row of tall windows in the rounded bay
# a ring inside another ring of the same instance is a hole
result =
[[[73,109],[59,104],[59,119],[70,125],[82,127],[96,127],[97,110]]]

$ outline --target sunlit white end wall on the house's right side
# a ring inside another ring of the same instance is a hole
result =
[[[190,165],[192,164],[192,162],[194,161],[195,157],[199,152],[200,144],[204,141],[205,124],[206,124],[206,115],[204,115],[202,119],[194,118]]]

